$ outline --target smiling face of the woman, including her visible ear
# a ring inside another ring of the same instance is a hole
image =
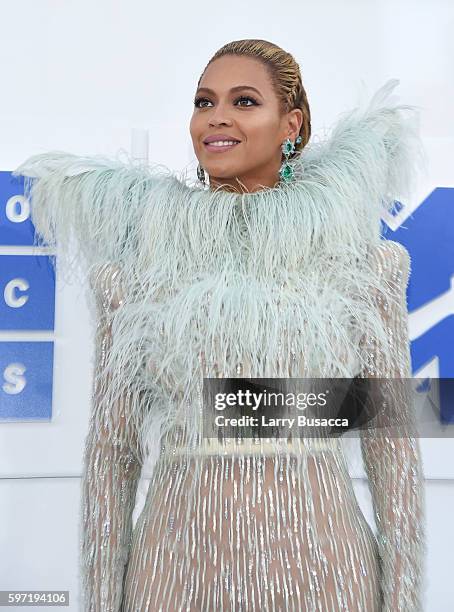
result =
[[[195,94],[190,132],[194,152],[210,177],[210,188],[256,191],[279,181],[281,145],[296,139],[302,112],[279,114],[279,102],[265,66],[244,56],[212,62]],[[205,144],[209,136],[237,140],[232,147]],[[226,187],[227,186],[227,187]],[[244,188],[243,188],[244,186]]]

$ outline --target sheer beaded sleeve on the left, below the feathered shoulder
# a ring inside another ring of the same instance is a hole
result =
[[[118,269],[97,275],[98,319],[92,409],[85,442],[81,496],[81,589],[85,612],[120,610],[141,471],[137,431],[128,422],[134,393],[101,403],[110,375],[103,374],[112,342],[111,313],[121,304]],[[115,289],[114,289],[115,287]],[[142,397],[139,401],[145,401]]]

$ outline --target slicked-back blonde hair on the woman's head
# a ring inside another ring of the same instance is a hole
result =
[[[311,112],[306,90],[303,87],[300,67],[294,57],[267,40],[257,38],[234,40],[216,51],[200,75],[197,87],[208,66],[224,55],[244,55],[262,62],[268,70],[273,89],[278,97],[281,115],[294,108],[301,109],[303,113],[303,122],[299,132],[302,141],[295,144],[295,151],[303,149],[311,137]]]

